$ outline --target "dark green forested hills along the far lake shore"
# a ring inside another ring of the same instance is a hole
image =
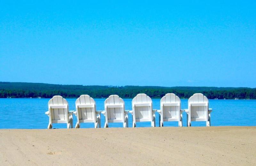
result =
[[[174,93],[180,98],[189,98],[195,93],[202,93],[208,99],[256,99],[256,88],[247,87],[119,87],[0,82],[0,98],[52,98],[54,95],[78,98],[82,94],[88,94],[92,98],[107,98],[111,94],[117,94],[122,98],[133,98],[139,93],[145,93],[151,98],[161,98],[167,93]]]

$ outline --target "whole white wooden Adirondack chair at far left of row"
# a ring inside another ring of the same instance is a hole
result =
[[[73,128],[73,111],[68,110],[68,102],[62,96],[53,96],[48,102],[49,116],[48,129],[52,128],[53,123],[67,123],[67,127]]]

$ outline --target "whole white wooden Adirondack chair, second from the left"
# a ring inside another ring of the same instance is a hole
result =
[[[74,114],[77,117],[76,128],[80,127],[80,123],[94,123],[94,127],[100,128],[100,112],[96,111],[96,104],[89,95],[81,95],[76,99],[76,111]]]

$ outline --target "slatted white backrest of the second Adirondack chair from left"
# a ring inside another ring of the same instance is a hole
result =
[[[76,99],[76,115],[81,120],[96,119],[96,104],[89,95],[81,95]]]

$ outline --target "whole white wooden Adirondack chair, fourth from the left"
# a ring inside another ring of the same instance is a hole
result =
[[[152,100],[146,94],[137,94],[132,99],[132,127],[136,127],[136,122],[151,122],[152,127],[156,127],[156,110],[153,110]]]

